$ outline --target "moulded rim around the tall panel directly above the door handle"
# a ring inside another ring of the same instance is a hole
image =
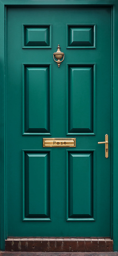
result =
[[[71,65],[83,65],[83,66],[93,66],[93,133],[68,133],[68,69]],[[96,124],[96,63],[66,63],[66,135],[95,135],[95,124]]]

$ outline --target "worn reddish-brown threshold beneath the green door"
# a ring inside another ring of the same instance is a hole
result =
[[[113,240],[98,237],[10,237],[5,240],[5,251],[112,252]]]

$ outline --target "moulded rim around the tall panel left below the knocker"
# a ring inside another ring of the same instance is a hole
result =
[[[50,80],[49,80],[49,92],[50,92],[50,106],[49,106],[49,112],[50,112],[50,133],[25,133],[25,66],[27,65],[33,65],[33,66],[49,66],[49,76],[50,76]],[[42,136],[42,135],[52,135],[52,63],[22,63],[22,135],[23,136],[31,136],[31,135],[35,135],[35,136]]]

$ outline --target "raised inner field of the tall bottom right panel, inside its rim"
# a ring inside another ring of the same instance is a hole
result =
[[[73,157],[73,160],[71,157]],[[70,181],[68,187],[70,195],[73,193],[73,200],[70,196],[69,217],[93,217],[93,161],[90,159],[91,157],[92,155],[89,153],[70,153]],[[71,175],[73,176],[71,177]],[[71,180],[73,180],[73,184],[70,183]]]

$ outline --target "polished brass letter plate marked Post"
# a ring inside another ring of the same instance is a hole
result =
[[[76,138],[43,138],[43,147],[75,147]]]

